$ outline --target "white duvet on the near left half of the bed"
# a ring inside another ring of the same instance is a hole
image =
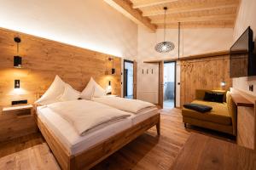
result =
[[[81,136],[131,116],[125,111],[84,99],[58,102],[47,107],[71,123]]]

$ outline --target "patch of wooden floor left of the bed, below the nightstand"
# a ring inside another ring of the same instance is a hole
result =
[[[60,169],[40,133],[0,144],[0,169]]]

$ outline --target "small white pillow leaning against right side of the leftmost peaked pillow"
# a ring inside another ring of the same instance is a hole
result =
[[[69,101],[69,100],[79,99],[80,94],[81,93],[79,91],[73,89],[69,84],[66,83],[64,93],[61,94],[59,100]]]

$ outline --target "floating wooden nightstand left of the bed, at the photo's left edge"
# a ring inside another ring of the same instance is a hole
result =
[[[3,107],[0,114],[0,142],[36,133],[38,127],[33,112],[32,105]]]

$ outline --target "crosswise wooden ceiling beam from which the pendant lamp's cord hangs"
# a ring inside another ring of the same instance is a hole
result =
[[[237,4],[223,4],[219,6],[190,6],[190,7],[183,7],[183,8],[169,8],[166,11],[166,14],[180,14],[180,13],[188,13],[188,12],[195,12],[195,11],[202,11],[202,10],[213,10],[213,9],[221,9],[221,8],[236,8]],[[164,10],[148,10],[143,11],[143,16],[155,16],[155,15],[163,15],[165,14]]]

